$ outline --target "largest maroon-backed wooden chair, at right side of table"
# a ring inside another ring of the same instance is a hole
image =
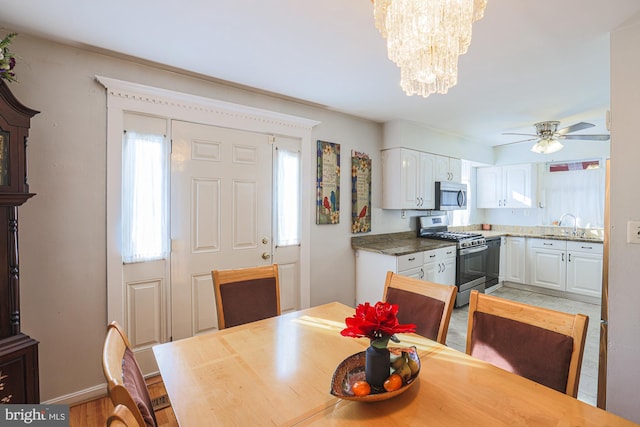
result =
[[[471,291],[467,354],[576,397],[589,318]]]

